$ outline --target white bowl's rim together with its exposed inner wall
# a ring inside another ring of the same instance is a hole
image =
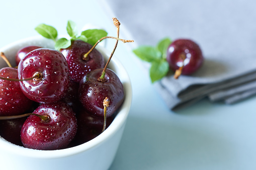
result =
[[[9,59],[10,63],[12,66],[15,66],[15,55],[16,52],[26,46],[41,46],[45,48],[54,48],[54,43],[52,40],[45,39],[43,37],[37,36],[37,37],[31,37],[27,39],[23,39],[17,42],[14,42],[10,45],[7,45],[3,48],[0,49],[0,52],[4,52],[6,57]],[[105,48],[97,46],[97,50],[99,50],[105,60],[107,60],[110,56],[110,52],[107,51]],[[3,67],[8,67],[5,61],[0,58],[0,68]],[[116,115],[115,119],[111,123],[111,125],[99,136],[96,138],[83,143],[78,146],[74,146],[71,148],[66,148],[66,149],[60,149],[60,150],[35,150],[35,149],[29,149],[25,148],[22,146],[18,146],[15,144],[12,144],[5,140],[3,137],[0,136],[0,150],[7,150],[9,152],[13,152],[14,154],[22,155],[22,156],[27,156],[27,157],[33,157],[33,158],[60,158],[64,156],[70,156],[73,154],[77,154],[79,152],[86,151],[88,149],[91,149],[93,147],[97,147],[97,145],[103,143],[106,139],[112,137],[118,129],[120,129],[126,121],[126,118],[128,116],[130,106],[131,106],[131,100],[132,100],[132,88],[131,88],[131,82],[129,79],[129,76],[122,66],[122,64],[115,58],[113,57],[109,67],[115,73],[118,75],[120,78],[123,86],[124,86],[124,91],[125,91],[125,100],[124,103],[122,104],[121,108],[118,111],[118,114]],[[1,151],[0,151],[1,152]]]

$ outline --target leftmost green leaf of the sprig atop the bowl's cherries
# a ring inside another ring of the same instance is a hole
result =
[[[57,30],[54,27],[45,24],[38,25],[35,30],[43,37],[52,39],[53,41],[56,41],[58,36]]]

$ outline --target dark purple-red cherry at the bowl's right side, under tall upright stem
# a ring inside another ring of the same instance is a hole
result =
[[[104,116],[103,101],[106,97],[110,103],[107,107],[107,117],[121,106],[124,101],[124,88],[116,73],[110,69],[106,70],[106,82],[98,80],[103,69],[89,72],[80,82],[79,100],[86,111],[95,116]]]

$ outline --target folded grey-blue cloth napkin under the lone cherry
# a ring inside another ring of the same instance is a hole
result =
[[[154,83],[170,109],[204,97],[231,104],[256,93],[255,1],[102,0],[101,4],[118,18],[136,47],[155,46],[164,37],[192,39],[201,47],[205,61],[196,73],[178,80],[169,73]]]

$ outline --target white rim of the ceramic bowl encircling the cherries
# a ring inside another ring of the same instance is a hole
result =
[[[23,47],[25,47],[26,44],[29,44],[31,42],[33,42],[36,45],[37,43],[39,43],[41,41],[48,42],[47,40],[48,39],[43,38],[41,36],[34,36],[34,37],[21,39],[21,40],[13,42],[11,44],[8,44],[5,47],[0,48],[0,52],[8,51],[14,47],[18,47],[18,46],[20,47],[20,44],[24,44]],[[51,43],[50,41],[52,41],[52,40],[49,40],[49,43]],[[97,46],[96,49],[99,50],[103,54],[105,59],[106,58],[108,59],[109,54],[111,54],[104,47]],[[67,157],[67,156],[71,156],[74,154],[78,154],[78,153],[84,152],[86,150],[90,150],[94,147],[99,146],[104,141],[108,140],[113,135],[115,135],[115,133],[117,133],[117,131],[119,129],[121,129],[123,125],[125,125],[126,119],[128,117],[129,110],[131,107],[131,102],[132,102],[132,87],[131,87],[131,81],[130,81],[129,75],[128,75],[127,71],[125,70],[124,66],[120,63],[120,61],[116,57],[113,57],[111,59],[111,63],[113,66],[115,66],[115,68],[118,70],[118,72],[122,72],[121,82],[124,86],[125,99],[124,99],[122,106],[119,109],[118,114],[114,118],[113,122],[102,134],[100,134],[96,138],[94,138],[86,143],[83,143],[83,144],[80,144],[77,146],[73,146],[70,148],[59,149],[59,150],[36,150],[36,149],[25,148],[23,146],[15,145],[0,136],[0,150],[3,149],[8,152],[12,152],[13,154],[26,156],[26,157],[33,157],[33,158],[43,158],[43,159],[61,158],[61,157]]]

